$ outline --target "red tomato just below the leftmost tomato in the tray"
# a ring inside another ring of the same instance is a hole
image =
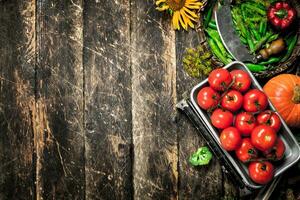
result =
[[[219,129],[224,129],[232,125],[233,114],[228,110],[216,109],[211,117],[211,123]]]

